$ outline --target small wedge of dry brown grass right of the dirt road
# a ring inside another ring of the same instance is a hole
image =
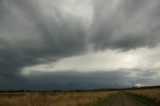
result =
[[[139,89],[139,90],[130,90],[128,92],[144,95],[153,99],[157,99],[160,101],[160,88],[157,89]]]

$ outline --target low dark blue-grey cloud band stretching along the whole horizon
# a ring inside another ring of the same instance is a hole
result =
[[[36,89],[36,90],[75,90],[98,88],[133,87],[134,83],[141,85],[156,85],[159,82],[153,78],[158,72],[145,72],[140,69],[120,69],[96,72],[32,72],[31,75],[20,78],[21,80],[0,80],[1,89]],[[152,76],[151,76],[152,73]],[[133,74],[135,76],[133,76]],[[2,78],[1,78],[2,79]],[[148,84],[149,83],[149,84]]]

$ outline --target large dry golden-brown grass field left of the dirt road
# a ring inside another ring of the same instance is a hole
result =
[[[1,95],[0,106],[90,106],[114,92]]]

